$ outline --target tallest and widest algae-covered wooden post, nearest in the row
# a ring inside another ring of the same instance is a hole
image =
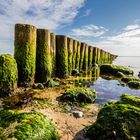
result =
[[[15,52],[19,84],[33,84],[36,64],[36,28],[27,24],[15,25]]]

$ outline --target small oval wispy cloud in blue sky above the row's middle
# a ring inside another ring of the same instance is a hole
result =
[[[94,24],[82,26],[80,28],[72,29],[71,35],[78,37],[100,37],[105,34],[108,30],[102,26],[96,26]]]

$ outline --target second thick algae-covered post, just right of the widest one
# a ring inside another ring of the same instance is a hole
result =
[[[46,82],[51,77],[50,32],[37,29],[36,82]]]

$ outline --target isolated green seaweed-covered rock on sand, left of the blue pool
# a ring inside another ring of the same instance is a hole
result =
[[[95,90],[86,87],[73,87],[65,90],[60,97],[62,101],[73,103],[93,103],[96,98]]]

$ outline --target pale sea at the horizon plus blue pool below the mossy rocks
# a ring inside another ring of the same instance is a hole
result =
[[[127,66],[134,71],[134,75],[138,78],[140,72],[140,57],[118,57],[113,64]],[[96,103],[104,105],[108,101],[116,101],[122,94],[132,94],[140,96],[140,90],[130,89],[128,86],[122,86],[118,80],[106,80],[99,77],[92,89],[96,90]]]

